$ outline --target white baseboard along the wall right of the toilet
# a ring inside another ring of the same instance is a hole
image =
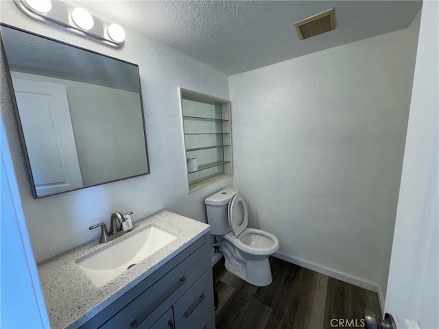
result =
[[[337,280],[348,282],[348,283],[353,284],[355,286],[358,286],[358,287],[361,287],[364,289],[368,289],[370,291],[378,293],[378,296],[380,295],[379,294],[380,287],[379,287],[379,284],[377,284],[377,282],[372,282],[370,280],[358,278],[356,276],[351,276],[350,274],[342,273],[340,271],[336,271],[335,269],[330,269],[329,267],[324,267],[322,265],[318,265],[316,263],[312,263],[312,262],[309,262],[307,260],[302,260],[300,258],[281,254],[278,252],[276,252],[276,254],[274,254],[273,256],[276,258],[280,258],[282,260],[285,260],[289,263],[293,263],[293,264],[299,265],[301,267],[305,267],[306,269],[311,269],[311,270],[316,271],[318,273],[322,273],[326,276],[330,276],[331,278],[335,278]],[[382,293],[381,293],[381,295],[382,295]],[[383,296],[381,296],[381,297],[383,297]],[[378,297],[378,299],[380,299],[380,297]],[[379,300],[379,302],[381,305],[380,300]],[[382,306],[381,306],[381,309],[382,309]]]

